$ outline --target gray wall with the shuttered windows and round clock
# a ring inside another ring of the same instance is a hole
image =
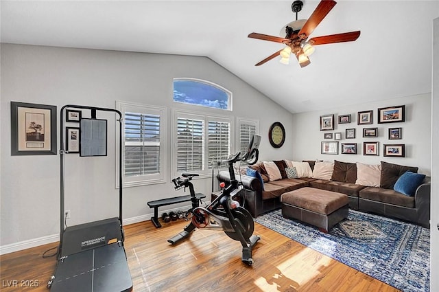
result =
[[[215,82],[233,93],[233,117],[258,117],[263,137],[261,159],[289,157],[287,147],[274,149],[267,139],[275,121],[292,133],[292,115],[209,58],[1,44],[1,242],[23,248],[58,240],[60,156],[10,155],[10,101],[115,108],[116,100],[166,106],[171,109],[199,107],[172,101],[172,79],[200,78]],[[99,116],[98,116],[99,117]],[[124,189],[125,223],[148,220],[147,201],[182,194],[170,183],[170,126],[167,133],[167,183]],[[69,225],[117,216],[115,189],[115,125],[108,124],[109,157],[84,158],[66,155],[66,205]],[[59,131],[59,130],[58,130]],[[59,136],[59,135],[58,135]],[[58,149],[60,147],[58,137]],[[285,144],[292,144],[287,134]],[[196,181],[198,192],[210,194],[211,179]],[[210,198],[210,196],[208,196]],[[173,205],[172,207],[178,207]],[[163,208],[165,211],[165,208]],[[6,247],[5,247],[6,246]]]

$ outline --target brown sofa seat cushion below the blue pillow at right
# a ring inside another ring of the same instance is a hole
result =
[[[367,187],[359,191],[359,197],[360,199],[368,199],[371,201],[378,201],[381,203],[388,203],[403,207],[415,207],[414,196],[405,196],[404,194],[396,192],[395,190]]]

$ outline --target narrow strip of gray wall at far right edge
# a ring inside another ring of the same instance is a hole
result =
[[[439,291],[439,18],[434,20],[433,98],[431,131],[431,244],[430,291]]]

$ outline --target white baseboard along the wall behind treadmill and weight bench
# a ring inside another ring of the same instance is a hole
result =
[[[161,210],[160,211],[161,213],[158,214],[158,216],[161,217],[161,214],[163,214],[164,212],[169,213],[171,211],[175,212],[177,210],[189,210],[190,207],[191,207],[190,205],[187,205],[187,206],[178,207],[178,208],[174,208],[174,209]],[[151,220],[152,216],[154,216],[154,212],[149,213],[149,214],[145,214],[145,215],[141,215],[141,216],[123,219],[123,226]],[[14,252],[14,251],[21,251],[23,249],[38,247],[40,245],[47,245],[47,243],[56,243],[57,241],[60,241],[60,234],[52,234],[52,235],[43,236],[43,237],[39,237],[39,238],[19,241],[18,243],[10,243],[9,245],[0,246],[0,255],[10,254],[11,252]]]

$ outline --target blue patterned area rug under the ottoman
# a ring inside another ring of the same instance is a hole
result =
[[[328,234],[283,218],[281,210],[255,221],[396,289],[430,291],[430,230],[418,225],[349,210]]]

